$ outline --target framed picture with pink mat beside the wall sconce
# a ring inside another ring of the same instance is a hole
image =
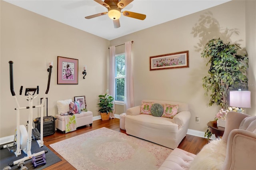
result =
[[[78,84],[78,59],[58,56],[57,84]]]

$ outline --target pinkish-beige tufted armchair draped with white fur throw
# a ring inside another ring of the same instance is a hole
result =
[[[174,151],[159,169],[255,170],[256,116],[229,112],[222,139],[212,140],[197,155]]]

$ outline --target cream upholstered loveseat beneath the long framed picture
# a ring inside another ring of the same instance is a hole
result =
[[[142,102],[179,105],[178,114],[171,118],[154,117],[152,115],[140,114],[140,106],[132,107],[126,111],[125,129],[126,133],[138,138],[166,146],[177,148],[188,131],[190,111],[187,103],[158,100],[142,100]]]

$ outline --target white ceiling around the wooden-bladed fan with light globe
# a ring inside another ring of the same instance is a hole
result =
[[[92,19],[85,16],[107,12],[94,0],[5,0],[11,4],[62,22],[96,36],[113,40],[230,0],[134,0],[122,11],[146,14],[145,20],[121,16],[120,28],[114,28],[108,15]]]

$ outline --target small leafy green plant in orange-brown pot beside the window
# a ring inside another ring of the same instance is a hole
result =
[[[113,112],[113,106],[114,104],[112,103],[114,101],[114,98],[109,95],[109,94],[105,94],[105,95],[99,95],[99,100],[100,103],[98,103],[100,109],[100,116],[102,121],[107,121],[109,119],[109,115],[108,113],[112,113]]]

